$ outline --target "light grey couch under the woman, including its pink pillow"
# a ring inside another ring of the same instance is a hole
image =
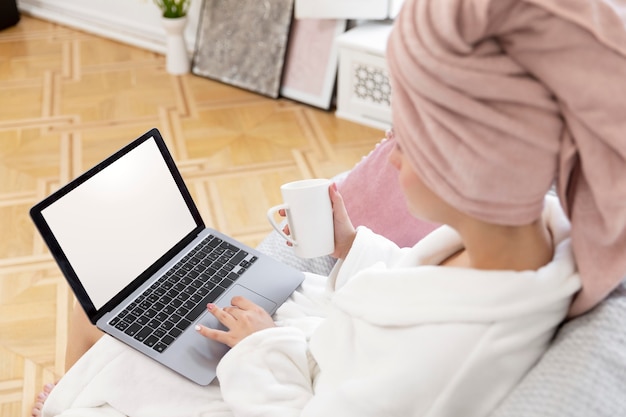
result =
[[[355,224],[399,246],[436,227],[409,215],[381,142],[350,172],[335,178]],[[327,275],[331,257],[300,259],[276,232],[258,246],[303,271]],[[493,411],[492,417],[626,416],[626,280],[591,312],[564,323],[542,359]],[[459,416],[462,417],[462,416]]]

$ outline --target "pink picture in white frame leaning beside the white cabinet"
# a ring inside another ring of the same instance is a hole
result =
[[[347,20],[294,19],[280,94],[325,110],[337,79],[336,38]]]

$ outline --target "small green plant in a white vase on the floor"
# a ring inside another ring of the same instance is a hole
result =
[[[161,23],[166,37],[166,69],[170,74],[189,72],[189,55],[185,44],[187,9],[191,0],[154,0],[161,9]]]

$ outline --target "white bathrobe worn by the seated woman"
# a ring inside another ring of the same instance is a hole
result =
[[[556,250],[537,271],[437,266],[442,227],[400,249],[360,228],[329,278],[308,275],[278,327],[231,349],[200,387],[104,337],[45,416],[486,416],[547,348],[580,288],[569,223],[546,201]]]

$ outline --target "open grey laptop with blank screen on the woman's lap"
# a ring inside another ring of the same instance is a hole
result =
[[[244,296],[272,314],[304,274],[205,227],[157,129],[54,192],[30,215],[92,323],[208,385],[228,347],[207,303]]]

